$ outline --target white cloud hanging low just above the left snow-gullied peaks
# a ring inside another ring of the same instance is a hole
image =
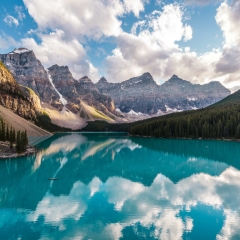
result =
[[[24,38],[21,44],[34,50],[45,67],[54,64],[67,65],[77,79],[84,75],[93,79],[99,78],[97,69],[86,60],[86,52],[77,39],[65,39],[65,33],[62,30],[56,30],[50,34],[38,33],[38,37],[41,39],[40,44],[33,38]]]

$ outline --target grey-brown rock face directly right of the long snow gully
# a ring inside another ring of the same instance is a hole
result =
[[[48,68],[56,89],[68,101],[67,108],[77,113],[81,111],[81,101],[105,113],[115,114],[111,97],[103,95],[87,76],[75,80],[67,66],[53,65]]]

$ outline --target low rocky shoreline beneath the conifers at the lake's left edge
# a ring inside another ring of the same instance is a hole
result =
[[[28,146],[25,152],[17,153],[15,145],[11,149],[9,142],[0,141],[0,159],[24,157],[27,155],[34,154],[36,152],[37,152],[36,148]]]

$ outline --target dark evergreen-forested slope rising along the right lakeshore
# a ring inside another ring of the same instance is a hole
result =
[[[240,139],[240,90],[205,109],[134,123],[129,133],[164,138]]]

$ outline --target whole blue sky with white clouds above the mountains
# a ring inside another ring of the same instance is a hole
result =
[[[240,51],[239,10],[236,0],[4,1],[0,53],[27,47],[45,67],[68,65],[75,78],[93,81],[148,71],[159,83],[178,74],[233,87],[240,72],[228,65],[232,49]]]

